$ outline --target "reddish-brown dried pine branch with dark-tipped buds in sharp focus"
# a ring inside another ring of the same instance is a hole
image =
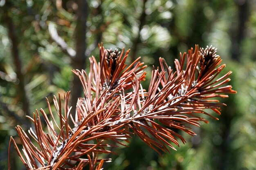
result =
[[[64,101],[60,94],[58,99],[54,96],[55,113],[48,100],[49,116],[40,109],[48,132],[43,130],[37,110],[33,118],[29,117],[35,131],[30,129],[27,135],[20,126],[16,127],[23,154],[12,137],[10,143],[27,169],[81,170],[89,166],[90,170],[100,170],[103,162],[111,159],[99,159],[98,155],[115,154],[108,148],[116,146],[108,141],[126,146],[124,141],[129,140],[131,133],[159,154],[169,152],[167,146],[179,146],[177,138],[186,142],[173,129],[195,135],[190,125],[207,122],[202,114],[215,118],[205,109],[220,114],[220,107],[225,105],[211,98],[236,93],[230,85],[222,86],[230,81],[231,72],[216,79],[225,65],[218,66],[221,59],[213,47],[195,46],[195,51],[191,48],[187,54],[180,54],[180,61],[175,60],[175,72],[159,58],[160,68],[153,69],[148,92],[140,84],[146,77],[146,66],[139,58],[127,66],[129,50],[113,51],[101,45],[99,51],[99,63],[93,56],[90,58],[89,74],[73,70],[84,91],[84,97],[77,101],[75,117],[70,114],[67,92]]]

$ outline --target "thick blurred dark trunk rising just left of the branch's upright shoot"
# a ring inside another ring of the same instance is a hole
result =
[[[76,55],[72,58],[72,67],[73,69],[85,69],[85,34],[86,34],[86,21],[88,18],[89,8],[87,0],[76,0],[78,8],[76,10],[77,15],[77,24],[75,29],[75,41],[76,41]],[[81,97],[82,86],[79,80],[79,77],[74,76],[72,81],[72,90],[71,90],[71,106],[72,112],[74,115],[76,112],[76,102],[79,97]]]

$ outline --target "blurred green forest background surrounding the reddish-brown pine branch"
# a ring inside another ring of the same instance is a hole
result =
[[[236,95],[222,102],[219,121],[209,118],[198,135],[159,156],[138,137],[118,148],[106,170],[256,170],[256,0],[0,0],[0,169],[7,169],[15,126],[47,110],[45,97],[72,91],[81,96],[71,69],[88,70],[88,57],[106,48],[131,49],[152,66],[164,57],[173,66],[195,44],[213,45],[224,72],[233,71]],[[222,73],[224,74],[224,73]],[[214,114],[214,113],[213,113]],[[12,167],[25,169],[11,149]]]

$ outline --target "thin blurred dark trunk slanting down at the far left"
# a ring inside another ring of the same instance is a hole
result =
[[[6,4],[6,8],[10,7],[11,4]],[[27,98],[26,90],[25,90],[25,79],[24,74],[22,73],[22,63],[18,49],[18,37],[15,34],[15,27],[12,21],[12,18],[8,15],[8,10],[5,10],[5,18],[4,18],[7,28],[8,28],[8,35],[9,39],[12,42],[11,53],[13,57],[13,65],[15,67],[15,72],[17,78],[19,80],[18,88],[18,96],[20,97],[20,102],[22,103],[22,110],[24,111],[25,115],[31,116],[30,109],[29,109],[29,99]]]

